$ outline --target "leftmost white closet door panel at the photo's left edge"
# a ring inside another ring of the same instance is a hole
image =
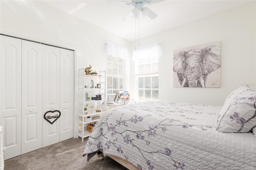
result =
[[[0,39],[0,125],[6,160],[21,153],[21,39]]]

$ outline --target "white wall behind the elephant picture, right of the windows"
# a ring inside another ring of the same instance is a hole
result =
[[[239,86],[250,84],[255,88],[255,12],[254,1],[141,38],[140,47],[160,43],[162,49],[159,100],[222,106],[228,94]],[[173,51],[216,41],[221,41],[221,88],[174,88]],[[135,47],[135,42],[132,42],[132,47]]]

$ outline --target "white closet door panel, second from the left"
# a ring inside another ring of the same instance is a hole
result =
[[[22,40],[21,154],[42,148],[42,48]]]

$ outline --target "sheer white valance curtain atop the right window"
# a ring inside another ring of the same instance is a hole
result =
[[[161,54],[160,45],[154,44],[148,47],[134,50],[132,53],[132,60],[143,59],[145,57],[159,57]]]

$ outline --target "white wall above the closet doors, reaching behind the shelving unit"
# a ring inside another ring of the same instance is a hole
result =
[[[0,33],[77,49],[77,68],[106,70],[106,44],[130,42],[40,1],[0,1]]]

